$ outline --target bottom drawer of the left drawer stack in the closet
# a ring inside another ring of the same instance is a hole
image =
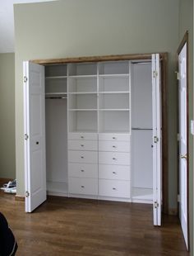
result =
[[[70,177],[69,193],[82,195],[98,195],[98,179]]]

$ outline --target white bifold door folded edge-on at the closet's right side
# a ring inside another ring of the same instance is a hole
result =
[[[152,117],[153,117],[153,216],[154,225],[161,225],[162,210],[162,133],[161,83],[159,55],[152,55]]]

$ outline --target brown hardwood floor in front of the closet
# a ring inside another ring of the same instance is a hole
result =
[[[0,211],[16,236],[17,256],[189,255],[178,218],[164,216],[163,227],[154,227],[150,205],[48,197],[26,214],[23,201],[0,192]]]

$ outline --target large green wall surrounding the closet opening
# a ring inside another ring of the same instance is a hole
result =
[[[177,0],[63,0],[15,5],[16,178],[24,195],[22,61],[169,53],[169,207],[177,208]]]

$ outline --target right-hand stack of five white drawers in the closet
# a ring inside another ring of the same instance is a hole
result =
[[[130,197],[130,135],[99,134],[99,196]]]

